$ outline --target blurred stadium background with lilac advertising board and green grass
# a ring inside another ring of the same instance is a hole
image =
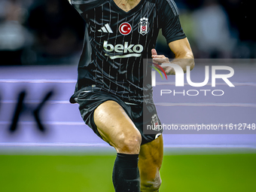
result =
[[[230,106],[174,106],[169,114],[158,105],[162,121],[256,123],[252,4],[175,2],[195,58],[232,66],[236,88],[221,86],[226,94],[218,99],[170,97],[173,103]],[[84,21],[66,0],[0,0],[1,191],[114,191],[114,150],[69,104],[83,36]],[[172,58],[161,35],[156,48]],[[203,67],[191,73],[195,81],[203,81]],[[157,94],[154,99],[162,102]],[[160,191],[256,191],[255,134],[165,134],[164,142]]]

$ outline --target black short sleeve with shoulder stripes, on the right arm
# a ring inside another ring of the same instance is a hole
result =
[[[173,0],[159,0],[158,11],[160,28],[162,28],[167,44],[186,38],[179,20],[178,8]]]

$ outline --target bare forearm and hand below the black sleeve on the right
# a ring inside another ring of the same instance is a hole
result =
[[[194,69],[194,55],[187,38],[170,42],[169,48],[175,54],[175,59],[170,62],[166,56],[157,55],[157,51],[152,50],[153,62],[157,62],[159,65],[173,63],[181,66],[184,72],[187,71],[187,66],[190,66],[190,70]],[[171,66],[162,66],[162,68],[166,75],[175,75],[175,70]]]

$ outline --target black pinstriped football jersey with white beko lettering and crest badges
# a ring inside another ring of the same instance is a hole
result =
[[[96,87],[126,102],[152,96],[151,58],[159,29],[167,43],[185,38],[173,0],[141,0],[125,12],[114,0],[71,0],[87,23],[71,102],[84,87]]]

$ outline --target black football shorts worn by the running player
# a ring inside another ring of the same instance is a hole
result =
[[[80,90],[78,94],[76,94],[75,102],[78,102],[79,104],[79,110],[84,122],[87,124],[87,126],[90,126],[93,132],[96,133],[96,135],[101,139],[102,136],[100,136],[93,120],[93,113],[100,104],[108,100],[117,102],[123,108],[123,110],[126,111],[126,114],[130,117],[130,119],[133,120],[133,123],[136,125],[137,129],[142,135],[142,145],[157,139],[157,137],[162,134],[161,130],[154,131],[153,134],[143,133],[143,127],[146,129],[146,126],[152,124],[152,120],[157,122],[157,124],[160,124],[154,104],[150,103],[143,105],[143,103],[135,104],[123,102],[119,96],[115,96],[113,93],[108,93],[107,91],[100,90],[96,87],[85,87]]]

